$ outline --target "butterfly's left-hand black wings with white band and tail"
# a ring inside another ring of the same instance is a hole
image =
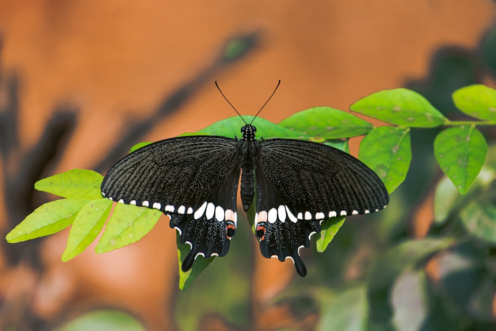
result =
[[[171,216],[170,226],[191,251],[183,270],[198,255],[224,256],[236,231],[236,194],[241,155],[236,139],[186,136],[144,146],[114,165],[102,194],[114,201],[146,206]]]

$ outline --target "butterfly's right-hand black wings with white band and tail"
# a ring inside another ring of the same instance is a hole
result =
[[[292,258],[310,246],[320,222],[334,216],[364,214],[389,201],[377,175],[353,156],[324,144],[292,139],[259,141],[256,235],[264,257]]]

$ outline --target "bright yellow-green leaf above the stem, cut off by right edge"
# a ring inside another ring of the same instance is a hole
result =
[[[455,106],[472,117],[496,121],[496,90],[486,85],[470,85],[453,93]]]

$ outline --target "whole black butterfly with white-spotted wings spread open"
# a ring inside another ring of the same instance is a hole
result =
[[[183,136],[139,148],[109,170],[102,194],[170,215],[181,243],[191,246],[182,265],[187,271],[199,255],[227,254],[236,233],[241,173],[245,211],[256,182],[260,252],[279,261],[291,258],[301,276],[307,269],[299,251],[310,246],[323,220],[375,212],[389,202],[379,177],[339,149],[294,139],[256,140],[251,123],[241,132],[241,139]]]

